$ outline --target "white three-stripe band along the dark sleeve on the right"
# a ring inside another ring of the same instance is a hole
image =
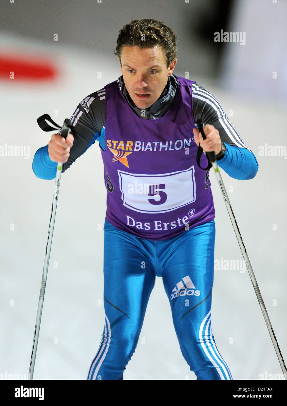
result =
[[[218,100],[214,96],[212,96],[209,92],[206,90],[202,90],[199,88],[197,84],[192,84],[193,88],[193,93],[192,96],[195,99],[201,99],[207,104],[209,104],[214,110],[216,111],[216,114],[218,115],[218,120],[220,121],[220,124],[222,125],[222,128],[225,130],[227,136],[229,136],[230,140],[237,145],[238,147],[244,147],[249,149],[241,139],[240,135],[238,132],[235,130],[229,119],[227,118],[227,115],[224,113],[222,107],[218,103]],[[251,151],[249,149],[249,151]]]

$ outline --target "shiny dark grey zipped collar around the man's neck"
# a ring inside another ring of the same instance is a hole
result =
[[[129,106],[134,110],[134,112],[143,119],[158,119],[168,112],[170,107],[173,105],[175,94],[178,87],[178,79],[175,75],[168,76],[167,84],[162,91],[160,97],[146,109],[138,108],[132,101],[123,81],[123,76],[118,78],[118,85],[123,93],[125,99],[127,100]],[[142,112],[145,111],[145,116],[143,117]]]

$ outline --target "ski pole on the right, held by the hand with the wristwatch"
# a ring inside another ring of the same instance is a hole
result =
[[[198,125],[199,131],[201,132],[201,135],[202,135],[203,139],[205,140],[205,139],[206,139],[206,136],[205,136],[205,133],[204,133],[204,131],[203,131],[203,122],[202,122],[201,119],[199,119],[199,120],[197,121],[197,125]],[[246,263],[246,266],[247,266],[247,269],[248,269],[248,273],[249,273],[249,276],[250,276],[251,281],[252,281],[252,285],[253,285],[254,290],[255,290],[255,294],[256,294],[257,300],[258,300],[259,305],[260,305],[260,307],[261,307],[261,311],[262,311],[262,313],[263,313],[263,317],[264,317],[264,319],[265,319],[265,322],[266,322],[266,325],[267,325],[267,328],[268,328],[270,337],[271,337],[271,339],[272,339],[272,343],[273,343],[273,345],[274,345],[274,348],[275,348],[275,351],[276,351],[276,354],[277,354],[277,357],[278,357],[278,361],[279,361],[279,363],[280,363],[280,365],[281,365],[284,378],[287,379],[287,369],[286,369],[286,365],[285,365],[283,356],[282,356],[282,354],[281,354],[281,351],[280,351],[278,342],[277,342],[277,340],[276,340],[276,337],[275,337],[275,334],[274,334],[274,330],[273,330],[273,328],[272,328],[272,325],[271,325],[271,322],[270,322],[270,319],[269,319],[267,310],[266,310],[266,308],[265,308],[265,304],[264,304],[264,302],[263,302],[263,298],[262,298],[262,296],[261,296],[259,287],[258,287],[258,285],[257,285],[257,281],[256,281],[256,279],[255,279],[255,275],[254,275],[254,272],[253,272],[253,270],[252,270],[251,263],[250,263],[250,261],[249,261],[248,255],[247,255],[246,248],[245,248],[245,245],[244,245],[244,243],[243,243],[242,236],[241,236],[241,234],[240,234],[239,227],[238,227],[238,225],[237,225],[237,221],[236,221],[236,219],[235,219],[235,216],[234,216],[234,213],[233,213],[233,210],[232,210],[232,207],[231,207],[231,204],[230,204],[228,195],[227,195],[227,191],[226,191],[226,189],[225,189],[225,187],[224,187],[224,184],[223,184],[223,181],[222,181],[222,177],[221,177],[221,175],[220,175],[219,168],[218,168],[218,165],[217,165],[217,163],[216,163],[215,154],[214,154],[214,152],[206,152],[206,155],[207,155],[207,157],[209,158],[209,161],[210,161],[211,164],[212,164],[212,167],[213,167],[213,169],[214,169],[216,178],[217,178],[217,180],[218,180],[218,184],[219,184],[219,186],[220,186],[220,190],[221,190],[221,192],[222,192],[222,196],[223,196],[225,205],[226,205],[226,207],[227,207],[227,211],[228,211],[228,214],[229,214],[231,223],[232,223],[232,225],[233,225],[233,229],[234,229],[234,231],[235,231],[235,235],[236,235],[237,241],[238,241],[238,243],[239,243],[239,246],[240,246],[240,249],[241,249],[243,258],[244,258],[244,260],[245,260],[245,263]]]

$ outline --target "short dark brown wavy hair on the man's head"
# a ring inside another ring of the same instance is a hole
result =
[[[177,58],[177,35],[163,22],[142,18],[125,24],[119,31],[117,46],[114,54],[121,60],[121,50],[124,45],[139,48],[161,46],[166,58],[166,67]]]

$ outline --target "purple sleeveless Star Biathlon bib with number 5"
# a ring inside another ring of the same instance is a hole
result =
[[[137,116],[117,81],[105,86],[106,219],[141,238],[167,240],[215,216],[208,171],[196,164],[193,82],[178,80],[173,106],[152,120]]]

